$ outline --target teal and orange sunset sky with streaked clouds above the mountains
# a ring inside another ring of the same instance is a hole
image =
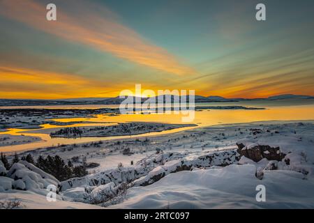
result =
[[[46,20],[47,3],[57,21]],[[266,21],[255,19],[264,3]],[[314,1],[0,0],[0,98],[314,95]]]

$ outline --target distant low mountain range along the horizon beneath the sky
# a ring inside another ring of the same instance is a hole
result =
[[[166,95],[163,95],[165,102]],[[167,95],[174,101],[174,95]],[[133,97],[133,100],[144,102],[148,98]],[[195,102],[240,102],[252,100],[308,100],[314,99],[308,95],[275,95],[268,98],[223,98],[220,96],[204,97],[195,95]],[[0,99],[0,106],[36,106],[36,105],[119,105],[125,98],[68,98],[58,100],[36,100],[36,99]],[[188,101],[188,99],[187,99]],[[157,102],[157,97],[156,97]]]

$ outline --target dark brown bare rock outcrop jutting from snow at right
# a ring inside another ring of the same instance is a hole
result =
[[[244,144],[237,143],[237,152],[242,156],[248,157],[254,162],[259,162],[262,158],[267,160],[281,161],[285,157],[284,153],[281,153],[279,147],[271,147],[268,145],[250,144],[245,146]]]

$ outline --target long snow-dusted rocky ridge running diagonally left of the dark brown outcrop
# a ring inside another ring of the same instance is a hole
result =
[[[192,167],[225,167],[237,163],[240,159],[239,153],[233,151],[211,152],[193,159],[184,158],[184,153],[161,153],[150,155],[140,162],[136,167],[123,167],[84,176],[82,178],[71,178],[63,181],[62,190],[82,185],[99,186],[107,183],[133,183],[135,186],[146,186],[160,180],[168,174],[177,171],[187,171]]]

